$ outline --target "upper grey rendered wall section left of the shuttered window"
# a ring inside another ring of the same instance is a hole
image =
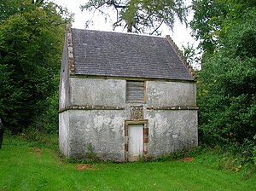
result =
[[[125,107],[125,80],[71,78],[70,87],[71,105]]]

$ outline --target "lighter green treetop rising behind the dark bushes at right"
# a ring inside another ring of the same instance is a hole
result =
[[[217,51],[222,46],[220,38],[255,4],[254,0],[194,0],[195,14],[190,26],[205,54]]]

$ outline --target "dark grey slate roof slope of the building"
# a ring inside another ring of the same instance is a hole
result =
[[[72,29],[75,74],[194,80],[166,38]]]

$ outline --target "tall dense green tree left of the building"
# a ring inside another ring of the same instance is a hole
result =
[[[67,11],[44,1],[0,1],[0,116],[20,132],[58,89]]]

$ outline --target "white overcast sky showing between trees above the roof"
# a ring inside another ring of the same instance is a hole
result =
[[[92,15],[88,11],[82,12],[79,8],[80,4],[84,4],[87,0],[52,0],[53,2],[60,4],[63,7],[75,14],[75,21],[73,23],[74,28],[85,28],[85,21],[93,18],[93,26],[89,26],[88,29],[91,30],[100,30],[100,31],[113,31],[112,24],[115,21],[115,18],[105,20],[101,14]],[[190,2],[191,0],[187,0]],[[190,15],[190,18],[192,16]],[[183,45],[186,45],[187,42],[195,43],[193,38],[191,38],[189,29],[186,29],[185,26],[181,25],[178,21],[174,25],[174,32],[169,30],[167,27],[162,27],[162,36],[170,35],[179,48]],[[122,32],[122,30],[116,30],[117,32]]]

